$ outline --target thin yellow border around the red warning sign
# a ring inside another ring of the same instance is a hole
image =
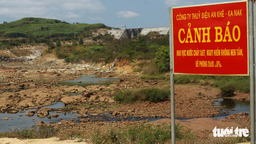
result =
[[[249,14],[248,14],[248,0],[239,0],[239,1],[229,1],[229,2],[218,2],[212,4],[202,4],[202,5],[191,5],[191,6],[181,6],[181,7],[171,7],[171,33],[173,36],[173,9],[175,8],[186,8],[186,7],[197,7],[197,6],[210,6],[210,5],[220,5],[220,4],[231,4],[237,2],[246,2],[246,15],[247,15],[247,74],[191,74],[191,73],[175,73],[174,72],[174,44],[173,44],[173,37],[172,37],[172,45],[173,45],[173,74],[177,75],[211,75],[211,76],[249,76],[250,69],[249,69]]]

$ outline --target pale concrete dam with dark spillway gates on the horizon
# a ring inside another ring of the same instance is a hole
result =
[[[112,29],[108,30],[108,34],[114,35],[116,39],[130,39],[137,35],[147,35],[149,32],[158,32],[159,34],[167,34],[169,27],[153,27],[153,28],[132,28],[132,29]]]

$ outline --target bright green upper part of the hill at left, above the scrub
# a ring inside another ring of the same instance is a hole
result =
[[[23,18],[0,25],[0,36],[4,37],[78,37],[85,31],[98,28],[110,28],[102,23],[69,24],[65,21],[43,18]],[[88,35],[89,36],[89,35]]]

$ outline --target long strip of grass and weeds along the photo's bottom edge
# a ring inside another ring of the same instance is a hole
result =
[[[40,126],[39,128],[35,125],[30,129],[23,128],[21,130],[15,129],[8,132],[0,132],[0,138],[19,138],[19,139],[44,139],[49,137],[59,137],[60,140],[77,139],[77,142],[92,142],[95,144],[102,143],[123,143],[123,144],[134,144],[134,143],[171,143],[171,126],[167,123],[159,125],[144,124],[144,125],[130,125],[125,128],[122,127],[106,127],[104,131],[96,130],[94,132],[85,133],[81,130],[71,129],[66,132],[55,131],[49,126]],[[210,137],[209,139],[200,139],[194,136],[191,129],[180,124],[175,125],[175,137],[177,144],[235,144],[248,142],[249,137],[224,137],[215,138]]]

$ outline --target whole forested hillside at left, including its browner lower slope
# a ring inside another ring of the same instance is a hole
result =
[[[92,37],[99,28],[107,28],[103,23],[70,24],[65,21],[43,18],[23,18],[0,25],[0,49],[20,46],[21,43],[51,43]]]

